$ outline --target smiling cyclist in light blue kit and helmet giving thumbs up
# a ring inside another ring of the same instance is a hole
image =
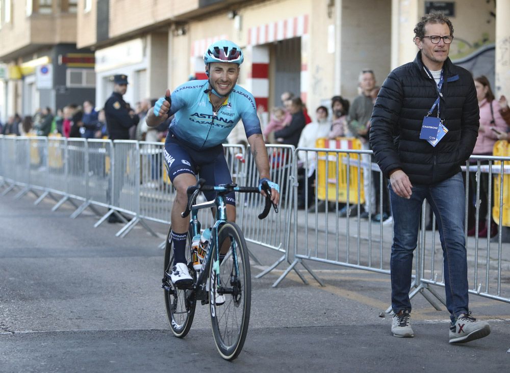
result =
[[[196,183],[196,171],[208,185],[232,182],[222,143],[240,119],[259,171],[259,189],[263,181],[268,181],[271,201],[277,204],[279,200],[279,187],[269,180],[267,150],[255,100],[236,84],[243,60],[241,48],[232,41],[212,43],[203,55],[208,79],[189,81],[177,87],[171,97],[170,90],[166,90],[166,97],[158,99],[146,118],[147,125],[155,127],[174,115],[168,127],[164,156],[168,176],[177,191],[171,212],[174,266],[170,274],[176,286],[192,282],[185,257],[189,218],[181,217],[188,202],[186,190]],[[261,194],[265,196],[263,190]],[[215,197],[214,192],[205,195],[209,201]],[[235,221],[234,192],[225,199],[228,220]],[[220,259],[225,254],[220,251]]]

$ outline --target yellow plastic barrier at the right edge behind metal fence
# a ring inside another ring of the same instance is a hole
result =
[[[493,149],[493,155],[494,156],[500,156],[505,157],[510,154],[510,144],[506,140],[499,140],[494,144]],[[499,167],[501,167],[500,161],[494,161],[495,167],[494,169],[499,171]],[[507,164],[504,164],[506,166]],[[494,206],[492,207],[492,218],[494,221],[499,224],[499,196],[500,196],[500,188],[499,185],[501,184],[501,175],[499,174],[493,174],[494,175]],[[503,220],[502,224],[505,227],[510,227],[510,175],[503,174]]]

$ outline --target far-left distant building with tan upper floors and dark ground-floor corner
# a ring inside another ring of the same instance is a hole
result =
[[[94,99],[94,54],[76,48],[76,0],[0,0],[0,119]]]

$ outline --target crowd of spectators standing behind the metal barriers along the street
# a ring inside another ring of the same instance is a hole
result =
[[[37,109],[33,115],[21,117],[10,116],[6,123],[0,123],[0,134],[15,136],[63,136],[66,138],[84,139],[129,139],[159,142],[166,137],[168,121],[156,128],[148,127],[145,116],[156,99],[142,99],[132,108],[123,101],[122,96],[127,89],[127,76],[114,76],[114,92],[103,106],[97,108],[92,100],[85,100],[81,105],[70,103],[53,113],[50,108]],[[284,92],[280,99],[281,105],[270,110],[269,120],[260,116],[264,140],[270,144],[287,144],[299,148],[315,148],[318,139],[337,139],[340,137],[356,138],[363,150],[370,149],[369,130],[374,103],[379,92],[373,70],[363,69],[359,74],[359,95],[352,102],[335,95],[319,105],[312,115],[300,97],[293,92]],[[486,76],[474,78],[480,108],[480,127],[474,155],[492,155],[497,140],[509,140],[510,109],[505,96],[498,99],[494,96]],[[266,108],[258,108],[264,112]],[[171,120],[171,118],[169,118]],[[310,208],[315,211],[316,190],[316,153],[300,151],[298,156],[298,208]],[[372,159],[371,159],[372,157]],[[383,221],[391,224],[391,208],[389,203],[388,179],[382,178],[380,185],[379,172],[372,171],[373,156],[362,154],[363,191],[366,202],[361,206],[361,219],[374,222]],[[487,162],[482,162],[482,164]],[[371,173],[371,177],[368,177]],[[468,235],[478,232],[481,237],[496,234],[495,222],[488,216],[491,209],[488,201],[488,175],[482,174],[479,180],[476,172],[470,174],[470,204],[468,207]],[[475,223],[475,196],[477,183],[480,183],[478,226]],[[382,190],[382,193],[378,193]],[[370,196],[370,201],[368,196]],[[381,201],[378,199],[382,197]],[[325,209],[327,202],[321,201],[318,211]],[[378,211],[378,207],[382,209]],[[333,207],[334,208],[334,207]],[[341,204],[340,217],[354,216],[357,206],[351,205],[349,211]],[[427,229],[431,227],[431,214]]]

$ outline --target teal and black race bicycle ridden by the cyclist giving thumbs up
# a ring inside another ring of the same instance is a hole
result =
[[[204,185],[205,180],[199,179],[196,185],[188,188],[188,204],[182,212],[187,217],[191,212],[188,237],[186,242],[186,260],[191,285],[176,287],[170,281],[173,267],[173,245],[171,240],[172,227],[168,230],[165,245],[165,272],[163,285],[165,305],[170,328],[176,337],[185,337],[193,323],[196,302],[209,304],[214,341],[221,357],[234,360],[241,352],[250,318],[251,306],[251,274],[248,248],[241,228],[236,223],[227,221],[225,195],[230,192],[260,193],[258,188],[238,187],[237,184],[217,186]],[[259,219],[264,219],[271,209],[271,189],[267,182],[262,184],[266,192],[264,211]],[[194,204],[200,191],[215,191],[213,201]],[[277,207],[273,205],[277,212]],[[198,210],[216,208],[211,238],[200,270],[195,270],[191,257],[194,254],[192,237],[200,234],[201,224],[198,221]],[[226,251],[228,248],[228,251]],[[225,256],[220,259],[220,251]],[[218,301],[221,300],[221,304]],[[224,303],[223,303],[224,301]]]

